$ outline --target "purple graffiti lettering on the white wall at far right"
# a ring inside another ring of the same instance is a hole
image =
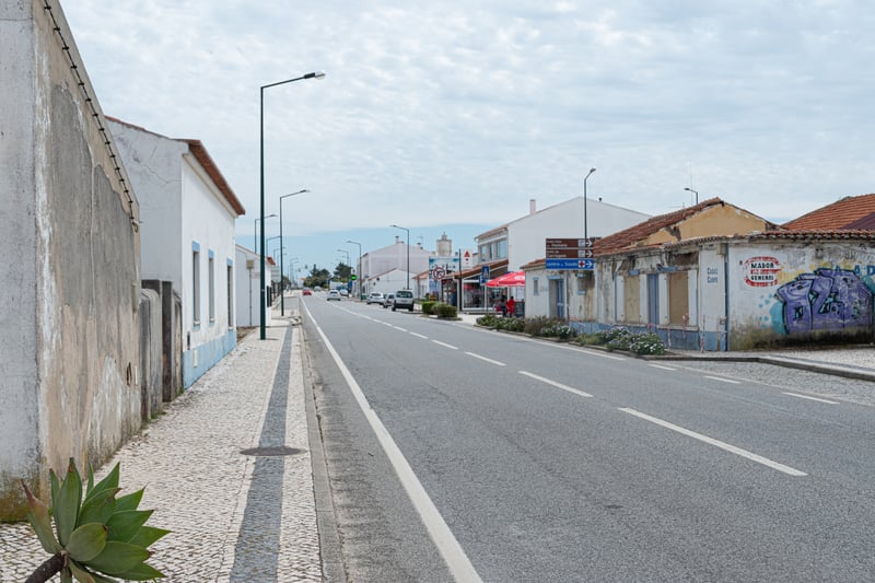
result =
[[[872,291],[855,271],[816,269],[775,291],[788,334],[840,330],[872,324]]]

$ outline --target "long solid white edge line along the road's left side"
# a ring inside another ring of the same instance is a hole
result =
[[[312,315],[311,320],[315,325],[315,320],[313,319]],[[425,525],[429,536],[431,536],[431,539],[438,547],[438,550],[440,551],[441,557],[443,557],[444,562],[446,562],[450,572],[453,574],[455,580],[459,582],[481,582],[482,580],[480,579],[480,575],[474,569],[474,564],[471,564],[468,556],[465,555],[465,550],[462,548],[462,545],[459,545],[458,540],[456,540],[456,537],[453,535],[450,526],[447,526],[443,516],[441,516],[441,513],[438,511],[438,506],[435,506],[434,502],[432,502],[429,498],[428,492],[425,492],[425,488],[422,487],[419,478],[417,478],[417,475],[413,473],[413,468],[410,467],[410,464],[398,448],[398,445],[396,445],[395,440],[392,439],[386,425],[383,424],[383,421],[380,420],[380,417],[377,417],[376,412],[371,408],[371,404],[368,403],[368,398],[364,396],[359,383],[355,382],[352,373],[349,372],[347,365],[343,364],[342,360],[340,360],[340,354],[337,353],[335,347],[332,347],[331,342],[328,341],[328,337],[325,336],[325,333],[319,326],[316,326],[316,330],[319,333],[323,342],[325,342],[325,348],[328,349],[328,352],[337,363],[338,369],[340,369],[343,378],[346,378],[347,384],[352,392],[352,396],[355,397],[359,407],[364,413],[364,417],[368,419],[368,422],[371,424],[371,429],[374,431],[374,435],[376,435],[376,439],[383,446],[383,451],[386,452],[386,456],[389,458],[389,462],[392,462],[392,466],[395,468],[398,479],[404,486],[404,489],[407,491],[407,495],[410,497],[413,508],[417,509],[417,512],[422,518],[422,524]]]

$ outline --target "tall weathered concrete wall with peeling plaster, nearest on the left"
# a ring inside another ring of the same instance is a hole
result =
[[[0,4],[0,518],[23,517],[21,479],[43,493],[49,467],[100,465],[141,415],[138,203],[43,4]]]

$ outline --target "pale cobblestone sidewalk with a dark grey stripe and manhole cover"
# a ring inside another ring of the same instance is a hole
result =
[[[145,487],[149,524],[173,530],[150,561],[164,581],[322,581],[293,319],[275,316],[265,341],[248,334],[97,473],[120,462],[122,493]],[[241,453],[283,445],[299,453]],[[24,581],[46,558],[30,525],[0,525],[0,581]]]

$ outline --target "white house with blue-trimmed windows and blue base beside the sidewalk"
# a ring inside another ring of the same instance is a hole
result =
[[[109,120],[141,202],[142,277],[182,300],[183,386],[236,343],[234,221],[245,210],[207,149]]]

